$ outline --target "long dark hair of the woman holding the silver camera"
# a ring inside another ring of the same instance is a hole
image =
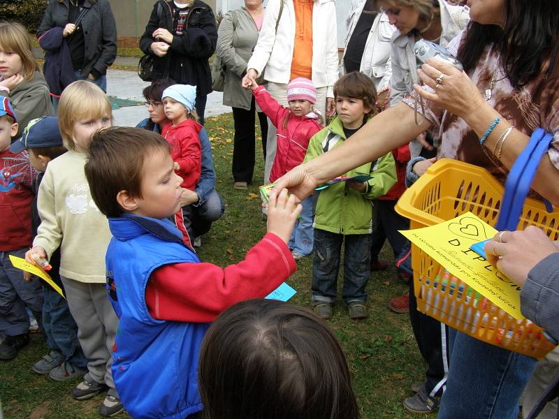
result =
[[[486,47],[500,51],[504,73],[516,88],[542,72],[544,62],[558,42],[558,0],[508,0],[504,4],[504,27],[471,21],[458,59],[470,73]]]

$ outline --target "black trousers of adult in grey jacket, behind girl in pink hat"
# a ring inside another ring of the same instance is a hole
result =
[[[254,154],[256,152],[256,134],[254,122],[256,121],[254,98],[250,110],[241,108],[233,109],[233,122],[235,124],[235,136],[233,142],[233,179],[235,182],[252,182],[254,172]],[[257,112],[260,121],[260,133],[262,137],[262,151],[266,159],[266,137],[268,136],[268,118],[264,112]]]

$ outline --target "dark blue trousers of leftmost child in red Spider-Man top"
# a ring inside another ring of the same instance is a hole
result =
[[[38,278],[31,282],[23,279],[23,272],[13,267],[8,255],[24,258],[28,248],[15,251],[0,251],[0,334],[6,336],[22,335],[29,331],[31,310],[41,325],[43,298]]]

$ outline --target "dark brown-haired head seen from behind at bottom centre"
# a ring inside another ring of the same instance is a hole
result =
[[[208,419],[359,417],[334,335],[286,302],[248,300],[224,311],[204,337],[198,379]]]

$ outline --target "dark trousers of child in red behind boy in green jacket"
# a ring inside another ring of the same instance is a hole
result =
[[[398,230],[409,230],[409,219],[394,210],[395,200],[375,200],[375,230],[372,232],[371,260],[379,260],[379,253],[388,238],[394,257],[402,253],[407,239]]]

